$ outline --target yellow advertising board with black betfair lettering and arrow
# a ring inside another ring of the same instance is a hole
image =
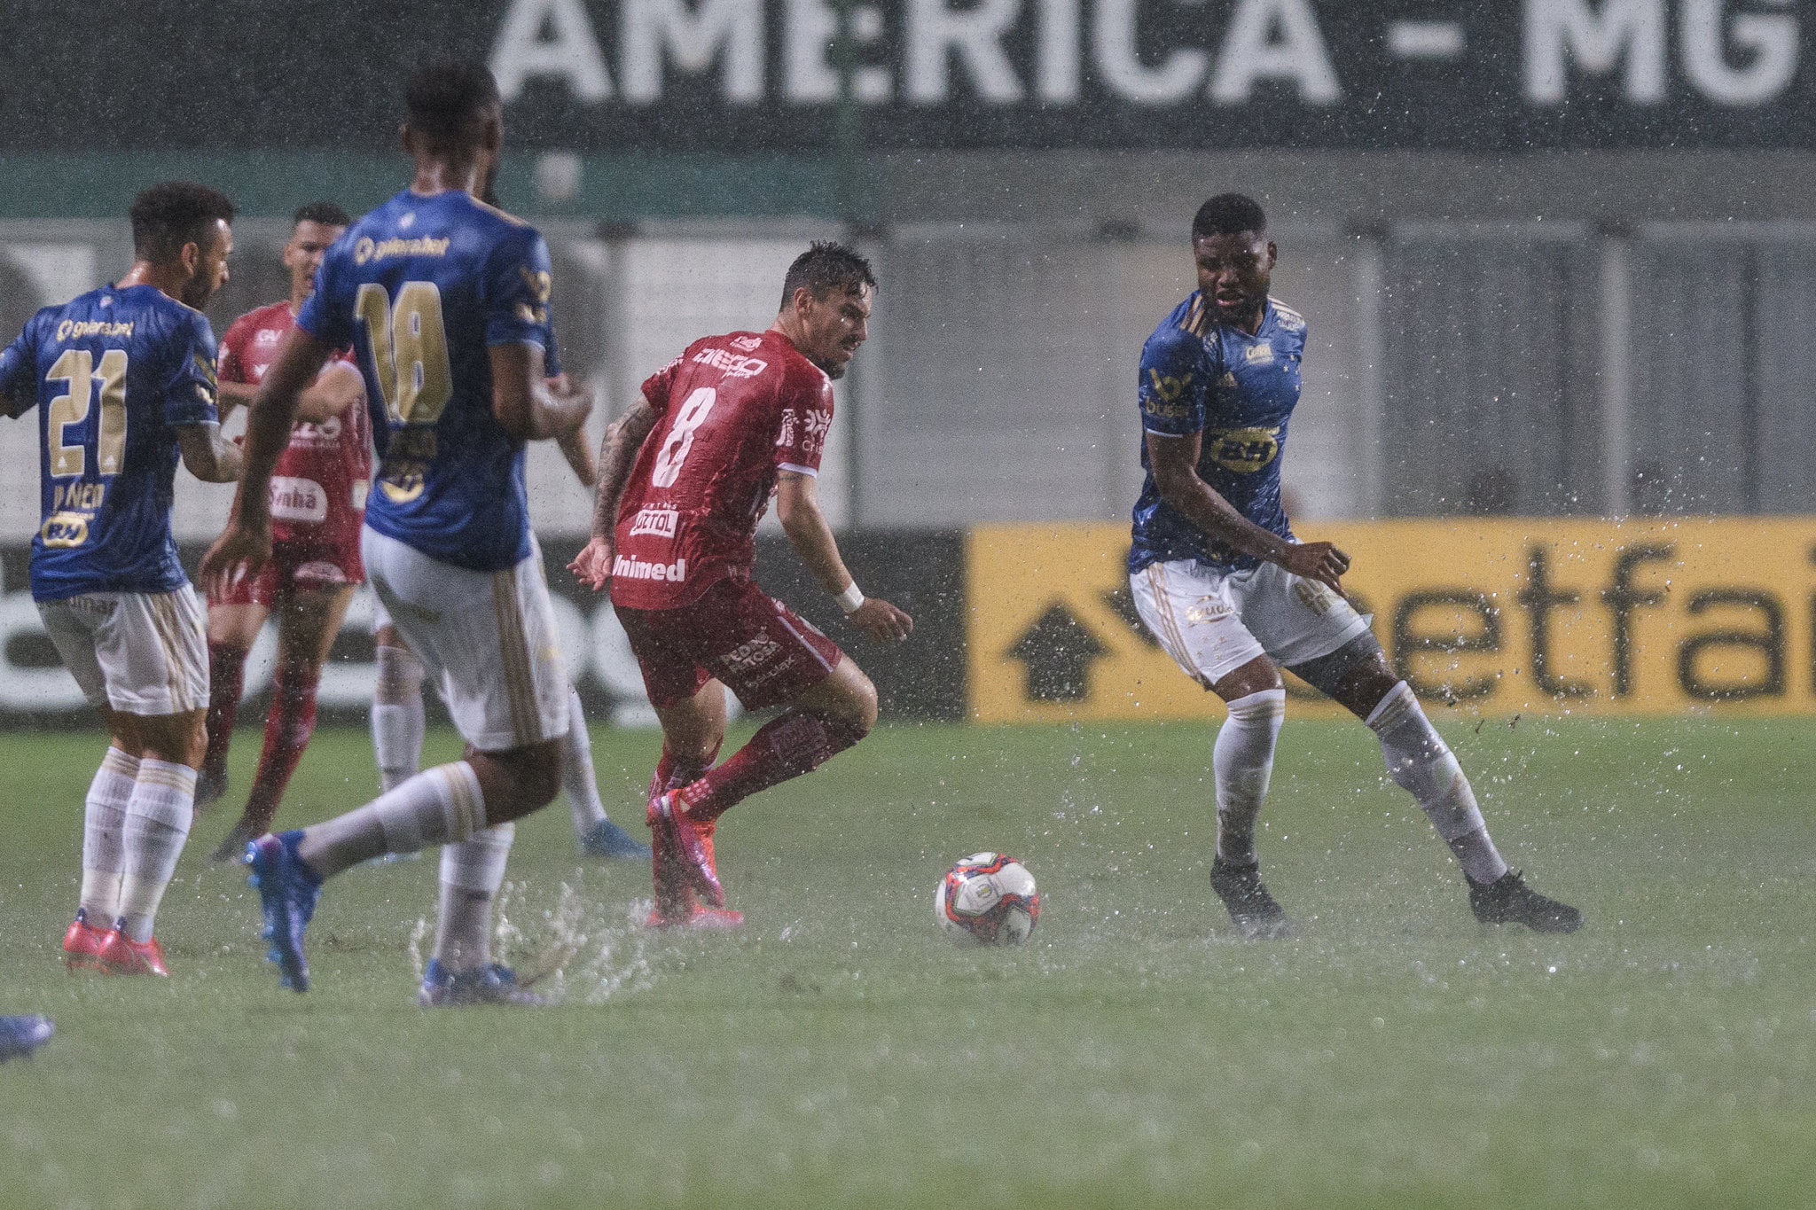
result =
[[[1816,517],[1298,530],[1351,555],[1346,591],[1427,700],[1489,715],[1816,713]],[[1222,717],[1135,617],[1128,544],[1113,522],[972,530],[973,718]],[[1337,711],[1291,688],[1293,713]]]

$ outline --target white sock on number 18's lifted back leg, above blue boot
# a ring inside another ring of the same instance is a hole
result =
[[[356,811],[303,829],[296,854],[332,878],[385,853],[467,840],[485,827],[479,776],[465,760],[418,773]]]

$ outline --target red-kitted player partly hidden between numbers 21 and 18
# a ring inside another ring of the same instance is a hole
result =
[[[278,356],[278,343],[314,290],[316,268],[341,232],[347,212],[312,201],[296,212],[283,267],[291,298],[232,321],[222,337],[222,419],[251,403]],[[271,831],[283,787],[316,729],[316,686],[334,646],[360,566],[360,521],[372,475],[370,421],[365,383],[345,356],[336,356],[296,403],[296,426],[271,479],[271,561],[256,577],[209,593],[209,751],[196,782],[196,805],[227,789],[227,746],[240,709],[245,657],[271,611],[278,611],[278,671],[258,773],[240,820],[211,860],[236,860],[245,842]]]

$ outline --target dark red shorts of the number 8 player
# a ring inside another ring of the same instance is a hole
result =
[[[745,709],[801,697],[844,657],[839,644],[754,581],[728,577],[679,610],[617,608],[652,706],[674,706],[708,680]]]

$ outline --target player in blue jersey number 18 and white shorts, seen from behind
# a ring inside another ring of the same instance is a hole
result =
[[[523,446],[577,430],[592,399],[550,388],[543,370],[552,287],[543,238],[479,201],[503,141],[492,73],[429,63],[410,76],[405,107],[410,185],[323,258],[252,403],[245,479],[202,566],[212,586],[271,557],[269,483],[298,395],[336,348],[354,345],[389,421],[361,557],[410,651],[441,682],[469,751],[365,807],[247,847],[271,958],[285,987],[307,990],[303,932],[323,880],[439,844],[439,927],[421,1001],[523,1001],[490,961],[492,896],[510,822],[559,787],[568,729]]]

